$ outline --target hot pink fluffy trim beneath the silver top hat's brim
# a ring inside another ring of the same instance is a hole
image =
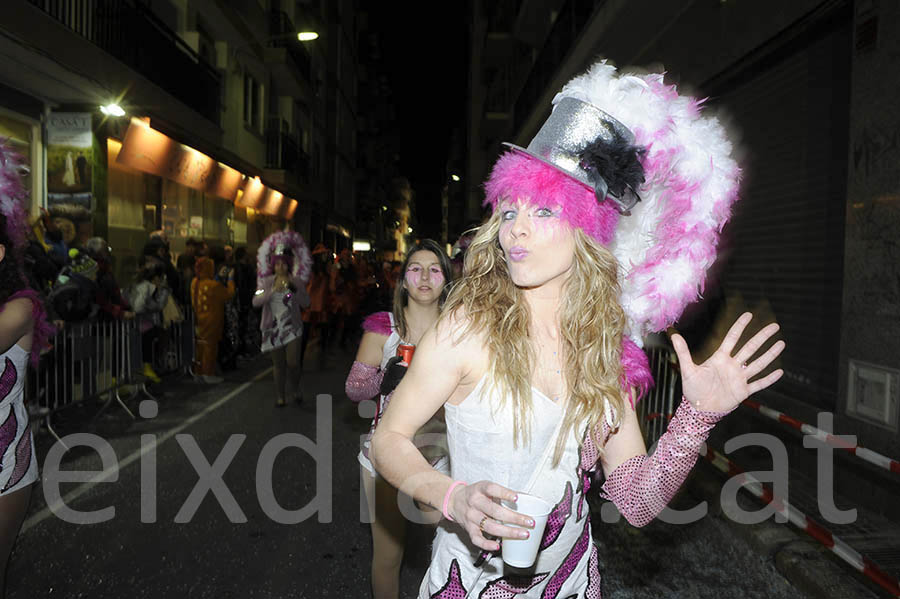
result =
[[[494,210],[503,199],[558,207],[565,222],[603,245],[612,241],[619,222],[616,209],[609,202],[598,202],[593,189],[524,152],[503,154],[484,187],[484,203]]]

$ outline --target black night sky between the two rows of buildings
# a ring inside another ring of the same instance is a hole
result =
[[[421,232],[440,232],[440,192],[454,127],[464,125],[468,72],[467,4],[364,1],[381,39],[392,88],[401,173],[416,191]]]

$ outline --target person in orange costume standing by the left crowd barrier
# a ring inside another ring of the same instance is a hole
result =
[[[194,266],[194,280],[191,281],[191,305],[194,307],[197,334],[197,374],[205,383],[221,383],[216,376],[216,357],[219,341],[225,328],[225,302],[234,297],[234,275],[228,277],[225,286],[213,279],[215,263],[210,258],[200,257]]]

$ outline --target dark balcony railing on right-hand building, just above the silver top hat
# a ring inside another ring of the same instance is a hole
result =
[[[550,35],[541,49],[522,93],[516,100],[515,130],[522,128],[525,119],[531,114],[541,94],[558,72],[563,59],[590,21],[591,15],[606,0],[568,0],[559,11],[559,17],[553,24]],[[547,107],[549,109],[549,106]]]

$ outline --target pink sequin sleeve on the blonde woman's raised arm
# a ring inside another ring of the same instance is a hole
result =
[[[682,399],[653,455],[620,464],[603,483],[600,496],[612,501],[632,526],[646,526],[678,492],[700,446],[726,414],[701,412]]]

